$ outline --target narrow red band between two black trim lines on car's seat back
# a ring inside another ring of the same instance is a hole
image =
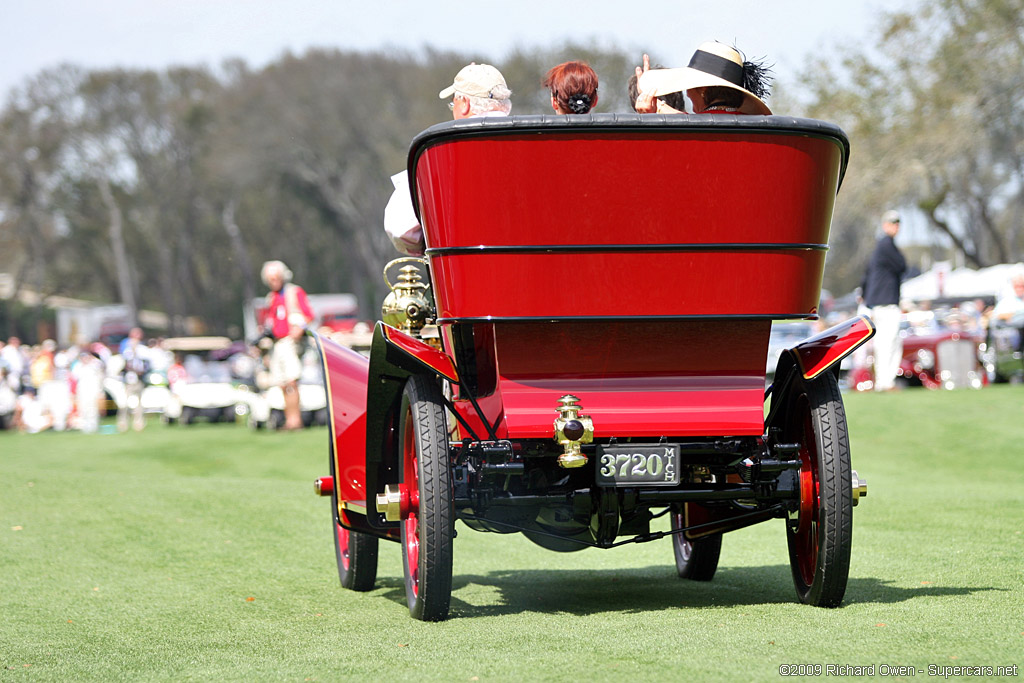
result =
[[[825,252],[434,256],[437,316],[812,316]],[[813,285],[809,285],[812,283]],[[507,292],[496,296],[496,292]]]

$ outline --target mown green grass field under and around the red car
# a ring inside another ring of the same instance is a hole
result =
[[[782,522],[710,584],[668,539],[559,554],[459,525],[452,618],[340,588],[327,432],[0,432],[0,680],[770,681],[782,665],[1024,665],[1024,390],[847,395],[845,605],[798,604]],[[812,670],[813,671],[813,670]],[[892,673],[891,671],[889,673]],[[821,670],[824,676],[825,670]],[[892,678],[892,677],[889,677]]]

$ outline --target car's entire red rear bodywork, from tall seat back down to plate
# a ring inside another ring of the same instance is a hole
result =
[[[599,438],[761,434],[770,319],[817,313],[842,156],[671,128],[415,147],[438,322],[493,326],[498,436],[550,436],[566,393]]]

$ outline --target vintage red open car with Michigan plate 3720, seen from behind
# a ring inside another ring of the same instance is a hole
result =
[[[837,373],[873,329],[787,349],[768,390],[765,357],[772,321],[817,317],[848,155],[787,117],[417,136],[428,272],[404,266],[369,359],[317,339],[341,584],[370,590],[378,540],[400,543],[413,616],[444,618],[456,520],[562,552],[670,536],[679,575],[708,581],[723,533],[782,519],[800,600],[839,605],[866,485]]]

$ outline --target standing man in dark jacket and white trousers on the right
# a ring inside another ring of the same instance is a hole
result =
[[[895,388],[896,372],[903,357],[899,285],[906,271],[906,260],[895,242],[899,232],[897,212],[883,214],[882,231],[885,234],[879,239],[867,262],[861,294],[874,323],[874,390],[890,391]]]

